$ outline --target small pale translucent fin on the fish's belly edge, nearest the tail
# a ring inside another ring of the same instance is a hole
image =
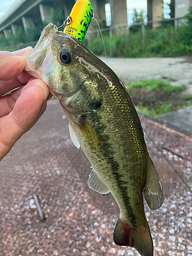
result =
[[[103,183],[102,179],[99,177],[94,169],[92,169],[89,175],[88,185],[99,194],[110,193],[110,189]]]

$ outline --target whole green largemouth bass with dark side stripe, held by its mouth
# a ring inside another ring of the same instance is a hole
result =
[[[163,204],[160,178],[144,141],[139,116],[118,76],[79,40],[50,23],[27,59],[26,71],[42,79],[69,120],[70,136],[88,157],[88,185],[111,193],[120,216],[114,242],[153,255],[143,197]]]

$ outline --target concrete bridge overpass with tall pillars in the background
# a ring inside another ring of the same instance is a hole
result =
[[[78,0],[17,0],[10,10],[0,19],[0,33],[7,37],[7,29],[12,29],[15,34],[15,26],[34,27],[34,20],[42,20],[45,23],[52,22],[51,8],[63,8],[66,18]],[[105,19],[105,4],[111,5],[112,26],[127,25],[127,1],[129,0],[91,0],[94,14],[99,20]],[[183,16],[192,0],[176,0],[176,16]],[[163,16],[162,0],[147,0],[148,20],[158,20]]]

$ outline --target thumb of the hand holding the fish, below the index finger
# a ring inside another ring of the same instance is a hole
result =
[[[40,79],[25,86],[13,111],[0,119],[0,161],[45,112],[49,90]]]

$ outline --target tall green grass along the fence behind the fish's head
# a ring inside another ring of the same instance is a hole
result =
[[[176,31],[174,26],[166,28],[145,29],[145,45],[142,44],[142,32],[130,32],[124,35],[123,31],[114,34],[112,38],[103,33],[106,55],[109,57],[174,57],[192,55],[192,41],[182,40],[178,30],[178,41],[176,42]],[[108,33],[109,34],[109,33]],[[101,39],[91,39],[91,45],[85,38],[84,44],[97,56],[104,56],[103,42]]]

